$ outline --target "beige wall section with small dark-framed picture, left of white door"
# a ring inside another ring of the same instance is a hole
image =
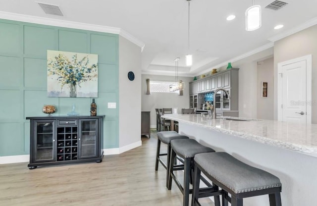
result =
[[[257,119],[274,119],[274,58],[258,63],[257,81]],[[262,82],[267,82],[267,97],[262,97]]]

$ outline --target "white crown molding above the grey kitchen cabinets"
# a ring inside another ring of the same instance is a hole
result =
[[[261,47],[255,49],[255,50],[251,50],[251,51],[248,51],[248,52],[246,52],[246,53],[243,53],[243,54],[241,54],[241,55],[239,55],[239,56],[236,56],[236,57],[234,57],[234,58],[232,58],[232,59],[229,59],[229,60],[227,60],[227,61],[224,61],[224,62],[222,62],[222,63],[220,63],[220,64],[214,65],[214,66],[212,66],[211,68],[219,68],[219,67],[221,67],[221,66],[225,66],[225,65],[228,64],[228,62],[238,61],[238,60],[240,60],[240,59],[246,58],[246,57],[251,56],[251,55],[253,55],[253,54],[259,53],[259,52],[264,51],[264,50],[267,50],[267,49],[269,49],[269,48],[271,48],[271,47],[274,47],[274,43],[273,43],[273,42],[270,42],[270,43],[268,43],[268,44],[266,44],[266,45],[263,45],[263,46],[261,46]],[[195,76],[199,76],[199,75],[201,75],[201,74],[206,74],[207,72],[210,72],[210,71],[211,71],[211,68],[205,69],[205,70],[203,70],[203,71],[197,73]]]

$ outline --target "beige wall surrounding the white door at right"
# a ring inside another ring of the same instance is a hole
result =
[[[274,77],[277,64],[293,58],[312,54],[312,102],[317,101],[317,25],[274,42]],[[277,85],[277,78],[274,79]],[[277,88],[274,88],[274,119],[277,119]],[[312,105],[312,123],[317,123],[317,106]]]

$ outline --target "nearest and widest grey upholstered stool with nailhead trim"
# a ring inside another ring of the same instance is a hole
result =
[[[222,189],[222,206],[228,206],[228,202],[231,206],[243,206],[243,198],[260,195],[268,195],[270,206],[281,206],[279,178],[262,169],[224,152],[196,154],[194,164],[192,206],[199,203],[201,172]]]

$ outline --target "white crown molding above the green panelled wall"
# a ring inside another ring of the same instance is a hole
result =
[[[145,44],[142,41],[138,40],[137,38],[135,38],[128,32],[116,27],[108,27],[108,26],[101,26],[96,24],[86,24],[86,23],[80,23],[80,22],[74,22],[74,21],[65,21],[60,19],[30,16],[30,15],[10,13],[10,12],[4,12],[4,11],[0,11],[0,18],[13,20],[13,21],[44,24],[49,26],[58,26],[58,27],[66,27],[66,28],[72,28],[72,29],[83,29],[83,30],[89,30],[89,31],[118,34],[126,38],[130,42],[134,43],[135,45],[139,46],[141,48],[141,51],[143,51],[145,47]]]

